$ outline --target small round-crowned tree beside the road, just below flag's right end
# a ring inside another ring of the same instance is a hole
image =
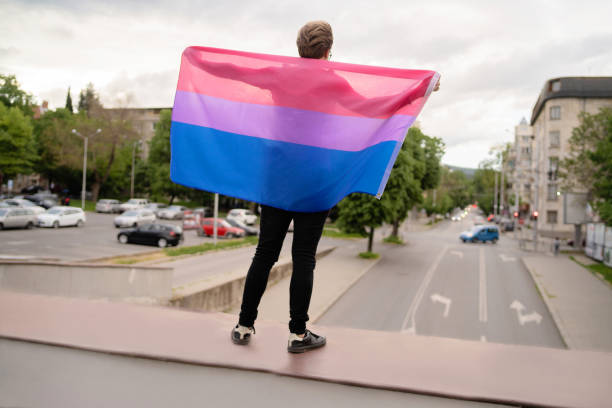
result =
[[[385,219],[381,201],[364,193],[353,193],[338,203],[338,226],[347,232],[368,235],[368,252],[372,252],[374,229]],[[369,231],[366,232],[366,227]]]

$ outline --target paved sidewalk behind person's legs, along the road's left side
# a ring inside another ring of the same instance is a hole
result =
[[[378,245],[381,245],[378,243]],[[317,261],[314,271],[314,286],[308,315],[310,323],[316,321],[380,259],[362,259],[357,256],[362,243],[336,248],[332,253]],[[275,285],[268,284],[259,304],[258,320],[287,323],[289,321],[288,276]],[[229,313],[240,313],[240,305]]]

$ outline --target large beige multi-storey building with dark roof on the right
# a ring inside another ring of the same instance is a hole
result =
[[[597,113],[612,106],[612,77],[562,77],[546,81],[533,108],[534,177],[531,203],[538,211],[544,236],[571,236],[564,224],[563,196],[558,180],[559,161],[569,154],[569,138],[580,123],[580,112]],[[579,191],[576,191],[579,192]]]

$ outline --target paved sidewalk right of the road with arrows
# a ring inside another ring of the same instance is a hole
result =
[[[612,290],[566,255],[528,255],[533,277],[567,347],[612,351]]]

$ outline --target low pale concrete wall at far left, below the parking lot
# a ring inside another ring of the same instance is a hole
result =
[[[172,268],[0,261],[0,290],[168,304]]]

